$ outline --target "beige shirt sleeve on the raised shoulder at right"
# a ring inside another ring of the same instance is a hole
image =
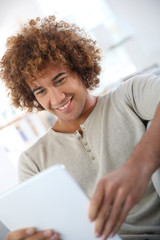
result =
[[[141,119],[151,120],[160,100],[160,77],[137,75],[122,83],[116,94]]]

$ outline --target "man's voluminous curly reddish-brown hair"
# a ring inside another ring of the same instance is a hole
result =
[[[76,25],[57,22],[55,16],[29,20],[21,32],[8,38],[6,46],[0,60],[0,77],[16,108],[29,112],[44,110],[26,79],[34,79],[47,63],[66,66],[78,73],[90,90],[99,84],[101,50],[96,42]]]

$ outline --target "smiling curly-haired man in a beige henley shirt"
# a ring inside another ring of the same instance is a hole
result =
[[[22,153],[19,178],[63,163],[91,198],[88,215],[97,237],[119,232],[123,239],[159,239],[160,79],[136,76],[95,97],[88,90],[98,86],[100,59],[94,41],[55,17],[31,20],[9,38],[1,78],[13,104],[57,117]],[[59,234],[27,228],[8,240],[53,240]]]

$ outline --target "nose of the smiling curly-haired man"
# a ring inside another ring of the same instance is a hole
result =
[[[49,102],[52,107],[57,107],[65,99],[65,93],[58,88],[51,88],[49,91]]]

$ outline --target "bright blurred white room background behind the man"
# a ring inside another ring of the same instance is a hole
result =
[[[159,0],[1,0],[0,58],[6,39],[30,18],[56,15],[84,28],[103,51],[101,83],[105,93],[136,73],[160,65]],[[27,114],[13,108],[0,82],[0,194],[18,183],[20,153],[54,122],[47,112]]]

